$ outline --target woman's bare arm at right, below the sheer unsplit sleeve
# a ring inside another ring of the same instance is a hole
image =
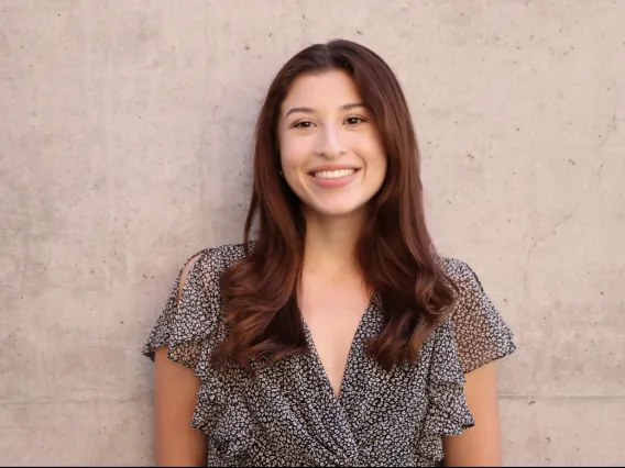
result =
[[[464,375],[475,425],[442,441],[446,466],[502,466],[496,363]]]

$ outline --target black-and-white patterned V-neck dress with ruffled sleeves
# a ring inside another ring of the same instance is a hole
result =
[[[169,359],[200,378],[189,423],[207,434],[208,466],[435,466],[443,458],[442,436],[474,425],[463,374],[515,350],[511,330],[473,270],[441,258],[460,296],[416,365],[386,371],[365,354],[364,342],[383,327],[374,293],[338,397],[305,323],[310,353],[261,368],[255,378],[234,367],[216,372],[210,355],[226,336],[219,279],[244,256],[243,245],[196,255],[180,300],[183,268],[143,354],[154,359],[154,349],[168,346]]]

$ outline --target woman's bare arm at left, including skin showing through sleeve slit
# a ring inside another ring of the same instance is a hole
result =
[[[178,289],[178,300],[186,277],[198,257],[185,266]],[[206,434],[190,427],[200,380],[191,369],[167,358],[167,347],[155,350],[154,357],[154,436],[156,465],[205,466]]]

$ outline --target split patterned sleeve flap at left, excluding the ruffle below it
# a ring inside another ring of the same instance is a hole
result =
[[[180,268],[143,347],[143,355],[154,360],[155,349],[168,346],[168,358],[194,370],[198,377],[205,377],[209,371],[208,354],[219,323],[220,294],[213,256],[211,249],[201,250]],[[187,265],[190,268],[180,290]]]

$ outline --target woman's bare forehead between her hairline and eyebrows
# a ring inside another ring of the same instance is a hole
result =
[[[360,93],[353,79],[342,70],[329,70],[298,76],[282,104],[282,113],[292,107],[306,105],[330,110],[359,102]]]

